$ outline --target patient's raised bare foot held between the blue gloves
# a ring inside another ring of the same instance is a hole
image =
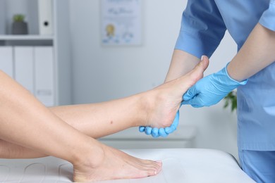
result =
[[[183,94],[203,77],[208,64],[209,59],[204,56],[203,60],[188,74],[150,90],[144,126],[169,127],[180,108]],[[145,95],[145,97],[148,96]]]

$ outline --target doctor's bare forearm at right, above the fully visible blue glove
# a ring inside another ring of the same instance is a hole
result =
[[[258,23],[238,54],[228,64],[228,75],[234,80],[243,81],[274,61],[275,32]]]

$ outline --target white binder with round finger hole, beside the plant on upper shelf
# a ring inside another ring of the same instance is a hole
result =
[[[39,34],[53,34],[52,0],[38,0]]]

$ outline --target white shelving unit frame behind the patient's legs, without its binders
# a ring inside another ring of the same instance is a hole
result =
[[[68,20],[70,2],[68,0],[51,1],[53,34],[41,35],[38,18],[39,0],[0,0],[0,47],[52,46],[54,58],[51,76],[54,77],[54,105],[68,105],[71,104],[71,51]],[[11,34],[12,18],[16,13],[22,13],[27,17],[30,34]]]

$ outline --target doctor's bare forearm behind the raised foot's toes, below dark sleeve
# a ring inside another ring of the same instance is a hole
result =
[[[178,77],[185,75],[195,68],[195,65],[200,62],[200,59],[185,51],[175,49],[171,59],[169,71],[166,75],[165,82],[175,80]]]

